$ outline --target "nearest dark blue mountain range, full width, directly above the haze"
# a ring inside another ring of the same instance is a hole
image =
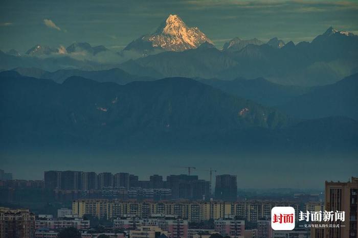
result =
[[[358,141],[358,123],[347,117],[297,120],[186,78],[119,85],[74,76],[58,84],[11,71],[0,73],[0,86],[2,147],[335,150]]]

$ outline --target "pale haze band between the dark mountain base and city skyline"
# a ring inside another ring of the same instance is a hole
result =
[[[15,179],[43,179],[43,171],[73,170],[127,172],[149,180],[153,174],[187,174],[178,166],[194,166],[193,175],[209,180],[209,168],[217,174],[237,175],[239,188],[324,188],[325,180],[348,181],[357,176],[357,153],[284,153],[260,151],[231,153],[216,149],[205,151],[0,149],[0,169],[12,172]],[[339,158],[339,160],[337,160]],[[339,161],[339,162],[338,162]],[[337,167],[337,163],[339,166]],[[144,164],[145,166],[140,166]],[[332,169],[337,168],[337,169]]]

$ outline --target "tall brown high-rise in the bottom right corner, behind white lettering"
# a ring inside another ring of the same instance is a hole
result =
[[[340,227],[332,227],[325,230],[325,237],[329,238],[358,238],[358,178],[352,177],[348,182],[325,182],[325,209],[327,211],[344,211],[345,221],[337,221],[334,224]]]

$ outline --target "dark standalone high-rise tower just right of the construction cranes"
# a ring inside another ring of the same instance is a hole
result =
[[[236,175],[217,175],[215,183],[215,198],[225,201],[235,201],[237,198]]]

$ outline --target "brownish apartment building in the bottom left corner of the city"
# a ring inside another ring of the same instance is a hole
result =
[[[35,238],[35,214],[29,209],[0,207],[0,238]]]

